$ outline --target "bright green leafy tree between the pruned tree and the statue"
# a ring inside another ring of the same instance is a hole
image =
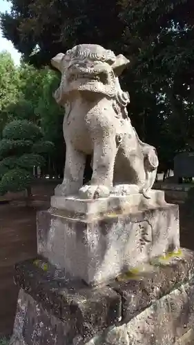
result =
[[[52,141],[54,149],[47,155],[42,172],[58,177],[63,174],[65,160],[64,109],[59,108],[52,96],[60,83],[59,76],[50,68],[37,70],[26,63],[21,64],[19,75],[21,97],[9,112],[16,119],[28,119],[40,126],[45,139]]]

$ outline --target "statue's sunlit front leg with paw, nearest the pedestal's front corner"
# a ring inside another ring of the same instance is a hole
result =
[[[115,135],[95,139],[93,152],[93,175],[90,186],[85,185],[79,190],[79,195],[86,199],[108,197],[113,188],[113,172],[117,144]]]

